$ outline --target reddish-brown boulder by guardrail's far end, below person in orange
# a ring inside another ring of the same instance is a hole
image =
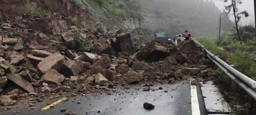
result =
[[[196,43],[193,40],[182,41],[178,45],[178,50],[182,53],[196,51],[197,50]]]

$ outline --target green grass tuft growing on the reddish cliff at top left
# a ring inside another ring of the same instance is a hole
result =
[[[32,8],[28,10],[28,16],[30,18],[41,18],[43,15],[50,15],[52,13],[48,12],[44,8],[41,8],[36,3],[32,3]]]

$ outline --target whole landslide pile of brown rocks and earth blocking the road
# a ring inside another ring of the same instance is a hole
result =
[[[31,29],[40,28],[35,23],[45,18],[19,16],[0,23],[0,105],[34,106],[45,99],[115,92],[137,83],[173,84],[190,75],[210,79],[216,73],[203,65],[207,59],[194,41],[177,46],[155,40],[135,52],[127,32],[101,34],[69,26],[45,33]]]

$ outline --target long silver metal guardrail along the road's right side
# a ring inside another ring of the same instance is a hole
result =
[[[193,39],[199,47],[201,47],[206,53],[209,59],[214,62],[221,70],[223,70],[237,85],[245,90],[252,98],[256,100],[256,81],[252,80],[248,76],[237,71],[235,68],[229,66],[220,58],[209,52],[204,46],[195,39]]]

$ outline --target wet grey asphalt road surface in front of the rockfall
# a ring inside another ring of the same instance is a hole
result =
[[[0,110],[1,115],[14,115],[13,111],[19,111],[17,115],[65,115],[61,108],[73,111],[76,115],[191,115],[190,81],[182,81],[177,84],[155,84],[151,87],[162,90],[143,91],[142,85],[130,85],[131,89],[117,88],[116,92],[107,94],[94,94],[88,97],[72,97],[67,102],[60,102],[47,110],[41,110],[47,106],[47,101],[36,103],[33,110],[30,107],[12,107],[12,110]],[[198,101],[201,115],[205,113],[203,97],[197,86]],[[168,92],[164,92],[168,90]],[[200,95],[200,94],[201,95]],[[51,102],[57,101],[51,100]],[[77,102],[81,102],[78,104]],[[155,106],[153,110],[143,108],[143,103],[149,102]],[[98,113],[98,111],[100,111]]]

